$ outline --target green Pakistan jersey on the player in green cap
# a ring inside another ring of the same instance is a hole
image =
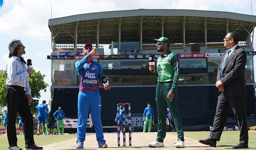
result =
[[[175,92],[180,76],[180,59],[178,55],[170,50],[165,55],[157,58],[157,69],[155,76],[157,82],[173,82],[170,91]]]

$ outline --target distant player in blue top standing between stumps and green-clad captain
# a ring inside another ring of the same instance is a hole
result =
[[[152,121],[154,125],[154,111],[153,111],[153,108],[151,108],[150,106],[151,106],[151,103],[147,102],[147,107],[145,108],[143,113],[143,120],[144,120],[143,133],[146,132],[147,123],[149,123],[148,132],[151,131]]]

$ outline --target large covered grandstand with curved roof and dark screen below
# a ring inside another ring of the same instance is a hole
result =
[[[47,56],[52,61],[52,112],[61,104],[63,110],[65,107],[69,110],[65,111],[66,116],[77,117],[79,81],[74,64],[83,58],[82,48],[90,42],[98,50],[94,60],[102,65],[112,85],[111,93],[100,88],[103,125],[115,125],[117,103],[131,103],[134,123],[141,126],[139,117],[147,101],[157,110],[156,78],[147,69],[149,55],[156,58],[160,55],[152,39],[165,36],[170,39],[171,51],[180,56],[178,96],[183,125],[212,125],[217,103],[217,67],[226,50],[223,39],[227,32],[235,31],[240,35],[239,46],[248,55],[247,114],[255,114],[256,16],[220,11],[136,9],[49,19],[48,25],[52,35],[52,53]],[[110,55],[104,55],[105,44],[111,49]],[[201,77],[203,80],[199,80]],[[228,125],[235,125],[232,114]]]

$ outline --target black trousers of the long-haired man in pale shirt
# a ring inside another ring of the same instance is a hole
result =
[[[33,116],[31,114],[28,97],[23,87],[18,85],[6,86],[6,104],[8,109],[7,115],[7,137],[9,146],[17,146],[16,136],[16,115],[17,112],[22,118],[23,131],[26,145],[33,145],[34,142],[34,129],[33,129]]]

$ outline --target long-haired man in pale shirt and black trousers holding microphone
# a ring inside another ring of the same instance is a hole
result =
[[[13,40],[9,44],[9,60],[6,63],[6,104],[8,109],[7,132],[9,150],[22,150],[17,146],[16,115],[23,118],[23,131],[25,138],[25,150],[42,150],[34,142],[33,116],[29,103],[32,102],[31,89],[28,75],[33,69],[27,69],[26,62],[21,55],[26,54],[25,46],[20,40]]]

